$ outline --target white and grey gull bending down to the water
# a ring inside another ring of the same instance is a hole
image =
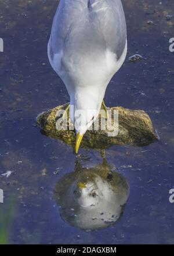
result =
[[[70,95],[75,152],[95,122],[108,83],[124,63],[126,21],[121,0],[60,0],[48,43],[49,62]],[[79,124],[75,113],[84,111]],[[89,113],[88,110],[95,110]]]

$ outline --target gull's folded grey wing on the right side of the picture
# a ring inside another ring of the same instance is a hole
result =
[[[88,6],[100,21],[106,47],[121,57],[126,44],[126,21],[121,0],[88,0]]]

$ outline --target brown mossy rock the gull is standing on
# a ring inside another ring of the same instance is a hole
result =
[[[55,107],[39,114],[37,117],[37,123],[41,128],[42,134],[63,140],[68,145],[75,145],[75,131],[72,130],[57,130],[56,121],[59,119],[59,113],[61,110],[66,109],[68,106],[64,104],[62,106]],[[112,122],[108,122],[107,129],[101,130],[101,121],[103,117],[99,117],[99,131],[92,129],[87,131],[82,139],[81,147],[93,148],[93,149],[106,149],[111,145],[133,145],[133,146],[146,146],[150,143],[158,140],[158,135],[155,132],[153,124],[147,113],[142,110],[129,110],[124,107],[112,107],[108,110],[118,111],[118,135],[108,136],[108,132],[113,130]],[[113,121],[113,116],[112,116]],[[96,121],[95,121],[96,122]],[[73,124],[70,118],[67,120],[68,128],[73,129]],[[114,125],[116,129],[117,124]]]

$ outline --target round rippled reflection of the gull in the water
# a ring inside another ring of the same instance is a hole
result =
[[[75,172],[57,183],[55,197],[64,221],[96,230],[118,220],[129,197],[129,185],[106,161],[89,169],[78,164]]]

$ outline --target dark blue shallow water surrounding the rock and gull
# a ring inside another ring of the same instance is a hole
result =
[[[39,113],[69,100],[46,53],[57,2],[0,0],[0,189],[5,196],[0,204],[1,241],[173,244],[169,190],[174,187],[174,70],[169,38],[174,36],[174,16],[168,15],[174,15],[174,3],[122,1],[128,55],[108,86],[106,104],[145,110],[160,140],[146,147],[115,145],[106,150],[111,171],[129,184],[129,199],[115,223],[86,232],[68,218],[64,221],[55,193],[60,180],[75,170],[73,148],[43,136],[35,125]],[[135,53],[143,59],[129,62]],[[78,161],[81,168],[90,169],[100,166],[103,158],[99,150],[81,149]],[[8,178],[2,176],[7,171]]]

